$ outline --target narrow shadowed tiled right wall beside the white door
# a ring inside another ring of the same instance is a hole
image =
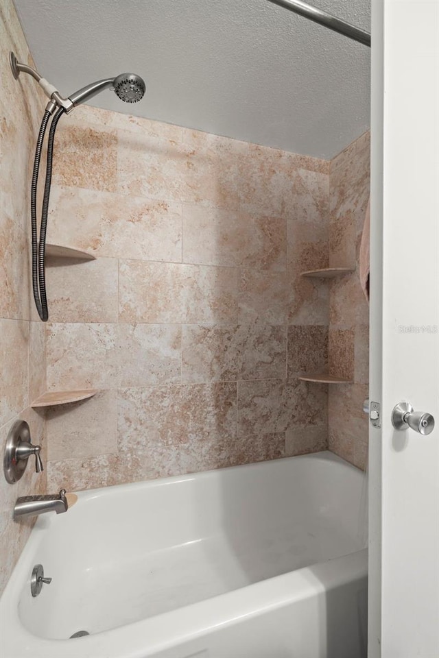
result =
[[[329,449],[364,468],[368,417],[368,304],[359,284],[358,258],[370,184],[370,134],[331,161],[329,262],[355,272],[331,284],[329,367],[353,381],[329,387]]]

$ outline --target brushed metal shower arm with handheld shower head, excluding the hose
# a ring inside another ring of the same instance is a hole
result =
[[[45,95],[50,99],[46,110],[51,114],[54,113],[57,107],[62,108],[64,112],[69,113],[76,106],[80,105],[80,103],[88,101],[88,99],[93,98],[93,96],[96,96],[104,89],[112,89],[117,97],[125,103],[137,103],[137,101],[140,101],[145,95],[146,86],[140,75],[136,75],[135,73],[121,73],[120,75],[117,75],[117,77],[108,77],[104,80],[92,82],[67,98],[64,98],[60,95],[58,89],[54,87],[53,84],[47,82],[38,71],[32,69],[32,66],[19,62],[12,52],[9,53],[9,61],[12,75],[14,75],[15,79],[17,79],[21,71],[23,71],[23,73],[29,73],[29,75],[32,75],[40,87],[43,88]]]

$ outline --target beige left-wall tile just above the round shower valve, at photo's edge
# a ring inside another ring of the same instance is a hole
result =
[[[0,426],[27,406],[29,323],[0,319]]]

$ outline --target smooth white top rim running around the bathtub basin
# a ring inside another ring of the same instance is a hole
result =
[[[337,455],[325,450],[313,454],[287,457],[275,460],[270,464],[283,463],[292,459],[313,459],[313,461],[329,461],[350,467],[361,474],[361,470],[344,461]],[[209,474],[220,476],[224,470],[237,470],[248,467],[263,467],[266,462],[227,467],[213,470],[172,476],[158,480],[143,480],[138,483],[99,487],[78,492],[79,500],[100,498],[105,493],[115,493],[115,489],[127,490],[135,487],[148,487],[177,483],[182,480],[204,478]],[[309,565],[307,567],[272,576],[264,581],[250,583],[245,587],[230,590],[211,598],[180,607],[156,616],[131,622],[113,629],[93,633],[86,637],[75,639],[48,639],[33,635],[21,622],[19,601],[23,592],[23,581],[27,585],[29,578],[27,566],[32,562],[32,556],[38,549],[43,535],[55,522],[56,517],[40,517],[32,529],[19,561],[16,563],[12,576],[0,598],[0,616],[5,620],[7,631],[2,633],[0,640],[1,655],[8,658],[143,658],[145,651],[159,653],[172,646],[188,642],[194,637],[202,637],[219,626],[234,624],[239,619],[275,610],[285,605],[316,595],[324,595],[331,587],[349,583],[354,579],[365,578],[368,571],[367,549]],[[172,629],[171,639],[169,628]],[[20,642],[16,642],[16,638]],[[147,637],[147,644],[144,638]],[[18,644],[18,646],[17,646]],[[109,650],[110,648],[110,650]],[[81,649],[80,651],[78,651]],[[4,652],[4,654],[3,654]]]

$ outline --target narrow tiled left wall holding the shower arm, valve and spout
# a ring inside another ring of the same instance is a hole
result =
[[[32,64],[11,0],[0,0],[0,454],[10,427],[27,420],[32,441],[45,448],[44,419],[29,404],[45,390],[44,326],[31,321],[29,276],[29,182],[44,99],[32,78],[12,77],[9,51]],[[43,450],[43,461],[46,459]],[[44,493],[45,472],[34,459],[14,485],[0,474],[0,593],[29,536],[31,521],[12,521],[16,498]]]

